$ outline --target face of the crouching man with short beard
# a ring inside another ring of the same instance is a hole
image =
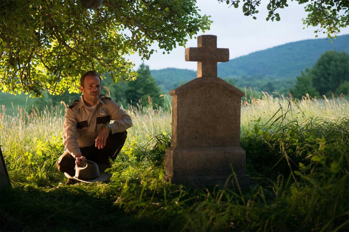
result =
[[[84,99],[90,102],[97,102],[99,93],[101,92],[101,81],[98,76],[88,75],[85,77],[84,86],[80,86]]]

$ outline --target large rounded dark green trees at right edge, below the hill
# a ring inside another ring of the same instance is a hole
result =
[[[338,96],[348,93],[349,55],[345,52],[326,51],[311,68],[297,76],[295,88],[290,92],[301,98],[306,93],[310,96]]]

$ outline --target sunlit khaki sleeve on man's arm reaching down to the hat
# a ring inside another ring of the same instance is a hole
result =
[[[79,143],[77,143],[77,117],[74,111],[67,109],[63,125],[63,144],[70,155],[74,158],[77,154],[81,154]]]

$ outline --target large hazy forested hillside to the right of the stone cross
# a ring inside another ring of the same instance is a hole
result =
[[[277,78],[295,78],[312,67],[327,50],[349,52],[349,35],[338,36],[333,43],[326,39],[302,40],[250,53],[218,65],[218,76],[260,74]]]

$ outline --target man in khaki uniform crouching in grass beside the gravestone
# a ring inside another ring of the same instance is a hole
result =
[[[65,114],[63,144],[65,152],[56,163],[60,172],[75,175],[75,165],[91,160],[109,164],[124,146],[131,117],[111,98],[99,95],[101,77],[88,71],[80,78],[80,100],[74,100]],[[110,120],[114,120],[110,123]],[[73,183],[72,180],[67,183]]]

